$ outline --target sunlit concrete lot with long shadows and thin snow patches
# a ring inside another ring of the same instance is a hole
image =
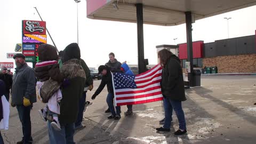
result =
[[[87,93],[87,100],[97,90],[100,81],[94,81],[94,90]],[[107,119],[107,90],[98,95],[85,112],[86,127],[75,134],[76,143],[254,143],[256,141],[256,76],[207,76],[202,77],[202,87],[186,90],[183,102],[188,134],[179,137],[178,120],[173,115],[171,132],[156,133],[155,128],[164,117],[163,103],[152,102],[133,107],[132,116],[124,116],[122,106],[119,121]],[[49,143],[46,123],[39,119],[37,102],[31,111],[34,143]],[[2,131],[5,143],[21,139],[21,124],[17,110],[11,108],[10,129]],[[125,139],[131,137],[130,139]],[[120,140],[120,141],[119,141]]]

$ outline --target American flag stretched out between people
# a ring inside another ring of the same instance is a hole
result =
[[[161,65],[156,65],[140,75],[112,73],[115,105],[137,105],[163,100],[161,79]]]

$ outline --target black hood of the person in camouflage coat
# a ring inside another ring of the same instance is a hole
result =
[[[80,49],[77,43],[69,44],[63,51],[63,62],[66,62],[71,59],[80,60],[81,58]]]

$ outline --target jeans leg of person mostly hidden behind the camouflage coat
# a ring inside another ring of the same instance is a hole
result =
[[[79,110],[78,110],[75,127],[81,125],[83,122],[85,102],[86,102],[86,92],[83,92],[82,98],[79,100]]]

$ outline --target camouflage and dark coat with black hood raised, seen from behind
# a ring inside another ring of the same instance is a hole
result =
[[[64,81],[61,87],[60,123],[71,124],[77,119],[79,99],[84,91],[86,76],[81,66],[79,46],[72,43],[63,52],[63,65],[60,71],[68,82],[65,85]]]

